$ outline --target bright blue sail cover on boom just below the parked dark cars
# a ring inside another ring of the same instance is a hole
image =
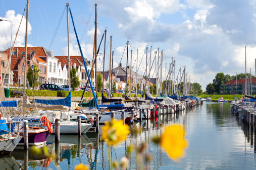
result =
[[[63,105],[63,106],[71,107],[71,92],[69,92],[69,95],[64,99],[54,99],[54,100],[34,99],[34,102],[45,104],[45,105]]]

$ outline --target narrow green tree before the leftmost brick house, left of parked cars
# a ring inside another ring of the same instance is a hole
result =
[[[29,86],[34,89],[40,82],[38,81],[38,77],[39,77],[39,72],[40,70],[37,69],[36,64],[34,64],[33,67],[31,67],[30,65],[28,66],[28,71],[27,71],[27,79],[28,79],[28,83]]]

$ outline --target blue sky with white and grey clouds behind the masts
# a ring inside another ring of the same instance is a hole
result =
[[[139,49],[138,62],[140,62],[146,47],[150,49],[152,46],[152,50],[160,47],[160,50],[164,50],[164,68],[165,63],[169,65],[173,56],[176,60],[176,74],[180,67],[186,66],[191,81],[199,82],[203,90],[218,72],[230,75],[244,72],[245,45],[247,46],[247,72],[251,67],[252,74],[255,74],[256,15],[255,4],[252,0],[90,0],[68,3],[75,20],[83,54],[88,59],[92,58],[94,4],[97,3],[97,44],[107,28],[106,44],[110,43],[110,36],[113,35],[114,66],[120,62],[129,38],[131,44],[129,50],[133,50],[132,65],[136,59],[137,49]],[[13,23],[12,37],[14,39],[26,1],[3,0],[0,4],[0,17],[11,20]],[[50,41],[65,5],[66,1],[36,0],[30,2],[28,19],[30,24],[28,44],[30,46],[43,46],[49,50]],[[50,48],[55,55],[67,55],[66,23],[65,11]],[[79,55],[71,24],[70,18],[71,55]],[[18,34],[16,46],[24,46],[24,37],[25,20]],[[10,39],[10,23],[0,23],[0,50],[5,50],[10,46]],[[100,53],[104,53],[103,46],[101,46]],[[110,53],[110,45],[106,53]],[[126,64],[125,58],[123,57],[121,61],[123,65]],[[106,55],[106,65],[109,65],[107,63],[109,63],[108,55]],[[144,56],[139,72],[144,72],[145,63]],[[130,59],[128,64],[130,65]],[[102,69],[102,64],[99,63],[98,66],[100,65]],[[165,70],[163,73],[165,76]]]

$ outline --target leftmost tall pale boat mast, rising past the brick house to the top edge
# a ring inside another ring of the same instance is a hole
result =
[[[24,65],[23,97],[26,95],[26,70],[27,70],[27,47],[28,47],[28,10],[29,10],[29,0],[27,0],[27,12],[26,12],[26,34],[25,34],[25,54],[24,54],[25,65]],[[10,57],[11,57],[11,55],[12,54],[10,54]],[[9,72],[9,76],[10,76],[10,72]]]

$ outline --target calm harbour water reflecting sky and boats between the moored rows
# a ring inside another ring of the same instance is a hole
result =
[[[127,154],[130,144],[139,147],[146,141],[146,153],[153,157],[147,169],[255,169],[255,135],[246,125],[233,116],[230,104],[204,103],[202,106],[179,114],[165,115],[157,122],[143,120],[134,123],[131,129],[141,127],[140,134],[130,134],[126,141],[116,147],[108,147],[100,135],[87,133],[81,139],[77,136],[61,135],[60,158],[49,162],[45,157],[35,157],[29,153],[29,169],[73,169],[76,164],[88,164],[93,169],[110,169],[109,157],[118,160]],[[185,138],[189,141],[186,157],[175,162],[166,155],[164,149],[150,141],[153,135],[161,134],[168,124],[181,123],[186,129]],[[58,151],[54,135],[49,137],[47,146],[50,153]],[[80,144],[81,143],[81,144]],[[59,161],[59,163],[58,163]],[[56,166],[57,164],[57,166]],[[7,169],[24,168],[24,151],[16,149],[12,156],[0,158],[0,165]],[[133,152],[128,169],[139,165]],[[145,165],[144,165],[145,167]]]

